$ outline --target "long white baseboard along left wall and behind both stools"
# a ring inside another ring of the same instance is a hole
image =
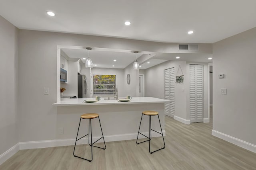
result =
[[[158,132],[160,133],[160,131]],[[145,133],[141,132],[141,133],[148,136],[148,132],[145,132]],[[159,133],[152,131],[152,137],[161,136]],[[137,135],[138,133],[112,135],[112,136],[104,136],[104,139],[105,139],[105,142],[124,141],[124,140],[137,139]],[[165,130],[163,131],[163,135],[165,136]],[[99,138],[100,137],[93,137],[92,141],[94,142]],[[139,139],[141,138],[145,138],[145,137],[142,135],[139,135]],[[20,142],[0,155],[0,165],[4,163],[7,159],[9,159],[12,155],[16,154],[19,150],[70,146],[70,145],[75,145],[75,141],[76,139],[56,139],[56,140],[47,140],[47,141]],[[103,142],[103,139],[100,139],[100,141],[98,142]],[[88,138],[77,141],[78,145],[87,144],[87,143],[88,143]]]

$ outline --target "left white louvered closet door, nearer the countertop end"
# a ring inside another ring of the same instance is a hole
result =
[[[164,70],[164,99],[173,101],[164,104],[164,113],[170,117],[175,113],[174,77],[174,67]]]

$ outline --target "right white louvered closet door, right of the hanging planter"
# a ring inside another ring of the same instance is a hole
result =
[[[190,64],[190,122],[202,122],[203,117],[203,65]]]

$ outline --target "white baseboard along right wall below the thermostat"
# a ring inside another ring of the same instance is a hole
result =
[[[234,145],[237,145],[239,147],[242,147],[244,149],[250,150],[254,153],[256,153],[256,145],[252,144],[252,143],[248,143],[246,141],[242,141],[241,139],[232,137],[230,135],[226,135],[224,133],[212,130],[212,135],[215,137],[218,137],[220,139],[223,139],[225,141],[228,141],[230,143],[233,143]]]

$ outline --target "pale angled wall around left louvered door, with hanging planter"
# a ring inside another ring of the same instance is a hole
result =
[[[155,97],[164,99],[164,70],[174,67],[175,76],[178,72],[179,65],[182,68],[184,77],[186,77],[186,61],[166,61],[145,70],[145,97]],[[180,71],[179,73],[180,74]],[[175,115],[186,119],[186,80],[183,84],[175,83]]]

